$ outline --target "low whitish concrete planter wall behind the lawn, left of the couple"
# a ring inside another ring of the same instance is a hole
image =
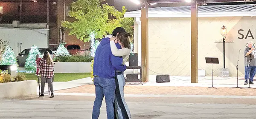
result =
[[[54,62],[54,73],[90,73],[92,62]]]

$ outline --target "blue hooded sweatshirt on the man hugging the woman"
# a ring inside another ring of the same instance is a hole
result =
[[[118,49],[121,46],[116,43]],[[125,71],[126,66],[122,65],[122,57],[116,57],[111,52],[109,38],[103,38],[100,42],[93,62],[93,75],[102,78],[114,78],[115,71]]]

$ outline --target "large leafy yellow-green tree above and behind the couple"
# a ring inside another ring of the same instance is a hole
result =
[[[125,7],[118,11],[108,4],[101,5],[102,1],[104,0],[77,0],[71,5],[70,11],[70,17],[76,20],[64,21],[62,26],[70,29],[70,35],[76,35],[84,42],[91,40],[91,34],[94,34],[95,39],[102,39],[116,27],[124,27],[131,33],[134,21],[133,18],[124,18]]]

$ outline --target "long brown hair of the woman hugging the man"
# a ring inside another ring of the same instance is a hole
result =
[[[117,35],[117,40],[128,49],[131,49],[131,42],[133,41],[133,35],[127,32],[122,32]]]

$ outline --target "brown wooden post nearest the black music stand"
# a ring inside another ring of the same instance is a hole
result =
[[[191,83],[198,83],[198,6],[191,6]]]

